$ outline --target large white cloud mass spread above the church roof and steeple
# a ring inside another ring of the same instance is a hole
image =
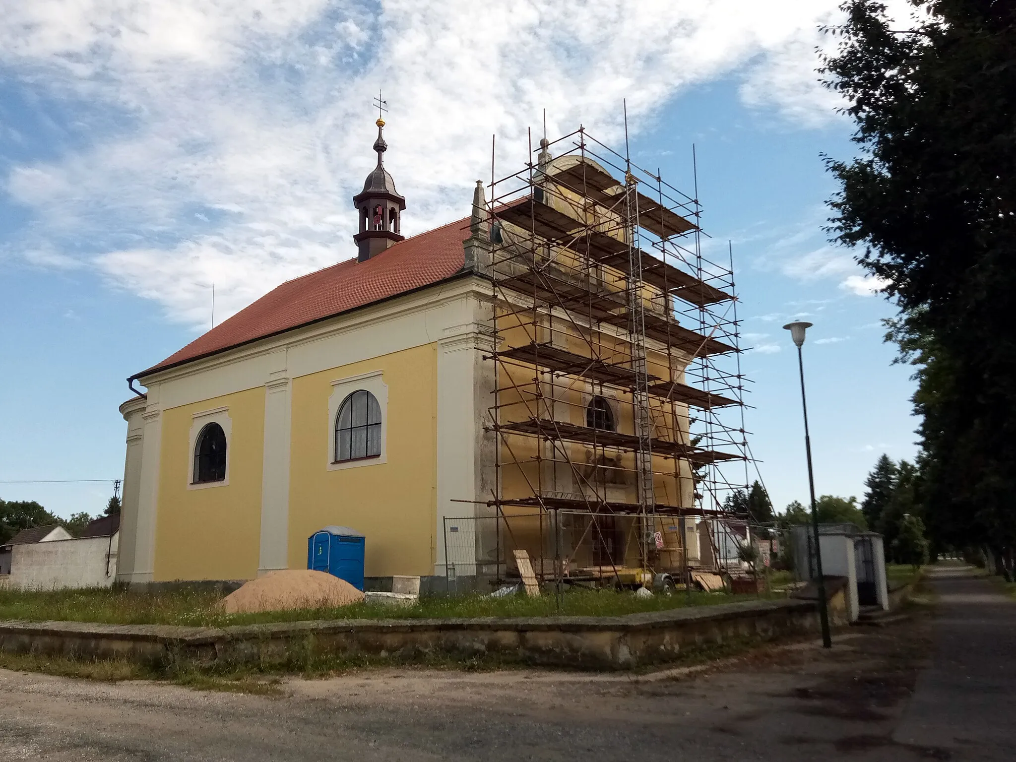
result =
[[[69,109],[123,118],[84,147],[16,164],[6,191],[37,218],[21,248],[93,261],[202,325],[212,281],[225,316],[354,253],[350,197],[374,162],[379,86],[386,164],[416,233],[466,213],[492,133],[500,166],[520,167],[545,107],[552,135],[583,123],[613,140],[622,99],[637,131],[689,85],[744,72],[750,105],[821,122],[807,51],[837,5],[8,1],[0,66]],[[845,271],[839,255],[811,256],[802,273]]]

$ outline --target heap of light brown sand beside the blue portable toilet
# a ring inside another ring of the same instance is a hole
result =
[[[221,601],[227,614],[322,609],[359,604],[364,593],[344,579],[311,569],[283,569],[252,579]]]

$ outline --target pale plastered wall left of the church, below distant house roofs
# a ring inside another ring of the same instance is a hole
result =
[[[16,545],[11,549],[8,584],[21,590],[112,587],[117,542],[114,535],[112,544],[105,536]]]

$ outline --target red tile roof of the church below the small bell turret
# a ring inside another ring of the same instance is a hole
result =
[[[407,238],[366,262],[348,259],[287,280],[180,352],[131,378],[405,294],[461,271],[469,218]]]

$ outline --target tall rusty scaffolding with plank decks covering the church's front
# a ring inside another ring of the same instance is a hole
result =
[[[697,187],[627,147],[580,128],[529,156],[500,178],[492,157],[495,473],[486,504],[445,521],[449,575],[501,581],[519,549],[544,581],[728,567],[724,498],[749,458],[729,250],[708,259]]]

